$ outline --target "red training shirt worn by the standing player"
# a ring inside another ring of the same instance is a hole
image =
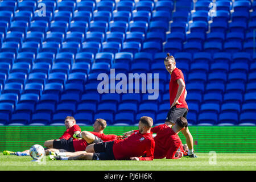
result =
[[[169,82],[169,93],[170,93],[170,106],[172,105],[172,103],[174,103],[175,97],[177,95],[177,89],[179,88],[179,84],[177,84],[177,80],[181,78],[184,83],[184,75],[181,72],[180,69],[175,68],[174,71],[172,71],[171,74],[171,80]],[[178,102],[180,102],[181,104],[176,104],[176,108],[187,108],[188,109],[188,105],[187,102],[185,101],[185,89],[183,91],[183,93],[181,93],[181,96],[178,100]]]

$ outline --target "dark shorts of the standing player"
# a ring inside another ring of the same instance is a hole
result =
[[[184,117],[187,119],[188,110],[187,108],[177,108],[176,106],[173,106],[167,114],[166,121],[174,123],[177,118]],[[186,125],[185,127],[188,127]]]

